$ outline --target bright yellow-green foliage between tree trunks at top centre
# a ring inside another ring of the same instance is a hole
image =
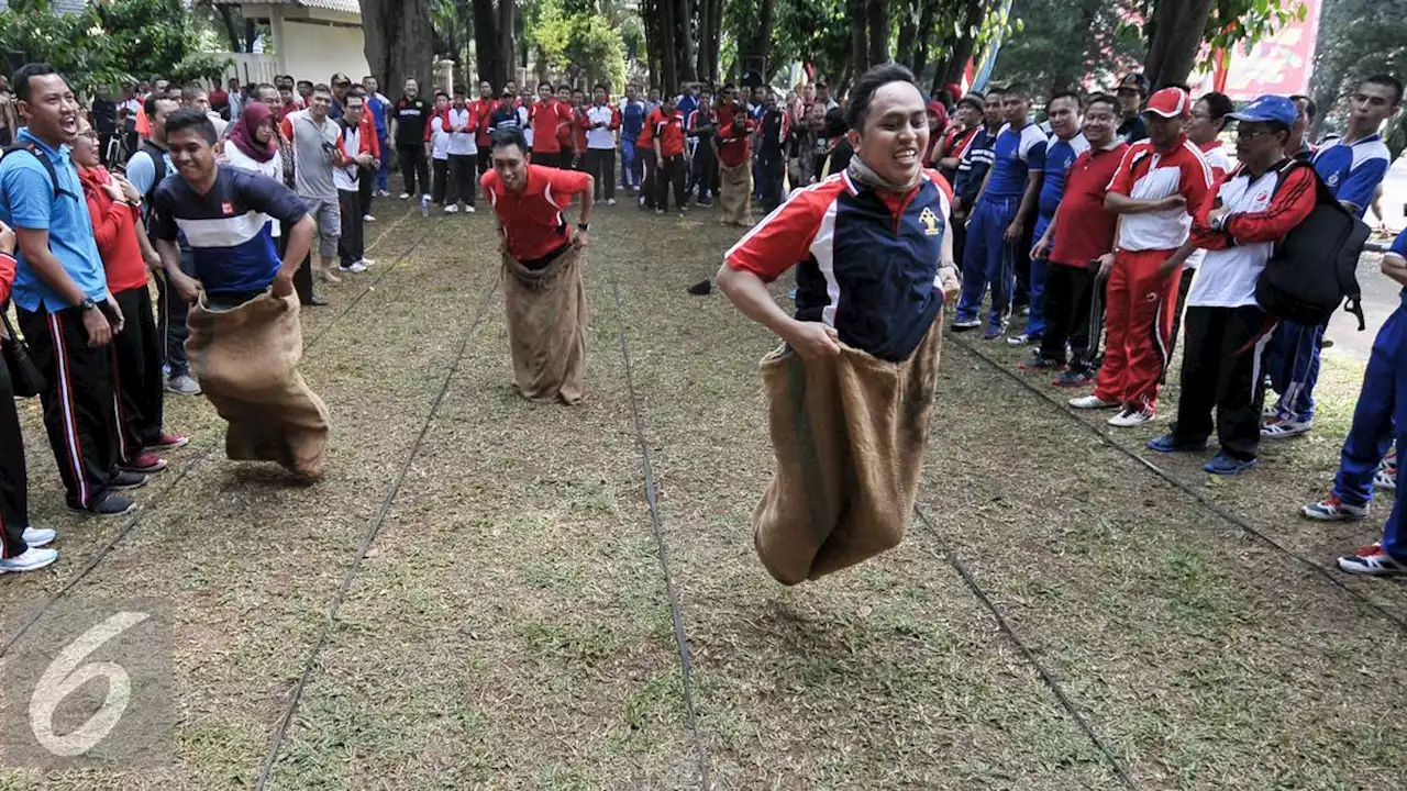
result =
[[[620,31],[592,11],[590,3],[543,0],[528,35],[546,59],[549,72],[566,75],[568,82],[584,87],[602,82],[612,93],[625,90]]]

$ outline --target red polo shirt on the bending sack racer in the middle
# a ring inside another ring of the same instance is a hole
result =
[[[508,191],[497,170],[484,173],[480,183],[504,227],[508,253],[522,262],[543,258],[571,241],[571,228],[561,210],[571,203],[571,196],[587,191],[591,176],[529,165],[528,186],[521,194]]]

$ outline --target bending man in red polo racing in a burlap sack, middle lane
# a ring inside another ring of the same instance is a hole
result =
[[[514,386],[533,401],[581,403],[587,379],[587,220],[595,179],[578,170],[529,165],[516,128],[490,138],[494,169],[484,194],[498,218],[504,255],[504,307]],[[561,210],[581,196],[577,235]]]

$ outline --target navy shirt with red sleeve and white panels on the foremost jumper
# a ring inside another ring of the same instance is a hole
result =
[[[727,266],[772,281],[796,266],[796,319],[836,328],[882,360],[909,359],[943,307],[938,263],[953,187],[924,170],[908,196],[848,172],[794,193],[727,251]]]

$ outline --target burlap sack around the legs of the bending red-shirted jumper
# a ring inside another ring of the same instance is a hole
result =
[[[504,253],[504,307],[514,386],[523,398],[581,403],[587,380],[587,287],[578,246],[543,269],[528,269]]]

